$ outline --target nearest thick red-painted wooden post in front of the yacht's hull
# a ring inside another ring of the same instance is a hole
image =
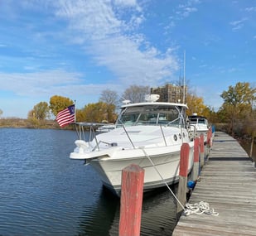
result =
[[[139,236],[142,216],[144,170],[130,165],[122,171],[119,236]]]

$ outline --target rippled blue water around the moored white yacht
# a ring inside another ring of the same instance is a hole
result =
[[[0,235],[118,235],[120,200],[83,161],[70,160],[73,131],[0,129]],[[141,235],[171,235],[167,190],[142,205]]]

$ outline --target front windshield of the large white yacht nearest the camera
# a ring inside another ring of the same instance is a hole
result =
[[[181,108],[176,106],[143,105],[124,108],[117,125],[169,125],[184,124]]]

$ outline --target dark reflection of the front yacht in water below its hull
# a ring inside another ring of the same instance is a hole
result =
[[[103,186],[95,205],[80,217],[79,235],[118,235],[119,204],[120,199]],[[167,188],[144,194],[140,235],[171,235],[176,220],[176,200]]]

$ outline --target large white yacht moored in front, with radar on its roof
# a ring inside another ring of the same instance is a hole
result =
[[[144,191],[179,180],[182,143],[190,146],[189,171],[193,165],[194,142],[186,127],[186,104],[157,102],[159,95],[147,101],[124,104],[115,128],[94,135],[94,123],[77,123],[79,139],[71,159],[85,160],[98,172],[103,184],[120,195],[122,170],[137,164],[145,170]],[[90,126],[89,140],[81,132]]]

